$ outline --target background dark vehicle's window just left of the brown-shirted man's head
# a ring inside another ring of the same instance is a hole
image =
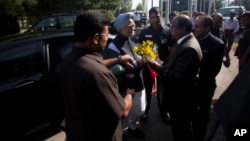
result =
[[[59,20],[61,28],[72,28],[74,26],[75,19],[75,15],[60,16]]]

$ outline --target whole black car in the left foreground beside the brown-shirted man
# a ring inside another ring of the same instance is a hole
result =
[[[47,126],[61,127],[61,59],[72,31],[23,33],[0,38],[1,137],[25,139]]]

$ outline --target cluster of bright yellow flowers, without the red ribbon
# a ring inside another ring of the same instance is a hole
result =
[[[143,41],[142,44],[135,46],[133,50],[140,56],[146,56],[152,60],[157,59],[157,46],[153,41]]]

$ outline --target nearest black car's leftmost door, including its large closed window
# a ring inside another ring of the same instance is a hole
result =
[[[2,135],[18,138],[41,123],[43,64],[41,41],[24,42],[0,53]]]

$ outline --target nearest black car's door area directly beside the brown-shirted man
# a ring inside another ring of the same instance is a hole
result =
[[[61,124],[64,118],[64,105],[60,86],[60,66],[62,58],[74,45],[73,35],[44,41],[45,73],[43,77],[44,95],[47,100],[47,116],[53,126]]]

